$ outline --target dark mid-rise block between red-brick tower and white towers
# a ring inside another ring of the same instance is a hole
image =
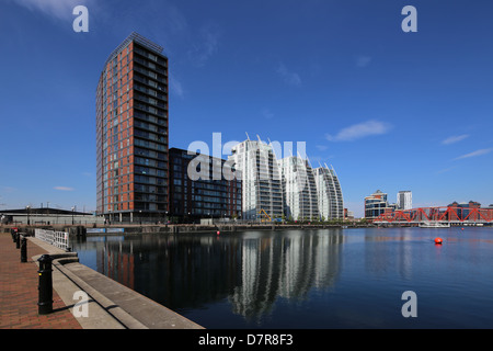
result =
[[[223,159],[170,148],[169,217],[181,223],[240,218],[241,180],[225,177],[227,168]]]

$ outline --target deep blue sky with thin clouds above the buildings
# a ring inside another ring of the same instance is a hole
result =
[[[72,30],[80,4],[87,33]],[[480,0],[3,0],[0,208],[95,210],[95,89],[134,31],[170,59],[171,147],[305,141],[356,216],[377,189],[489,205],[492,13]]]

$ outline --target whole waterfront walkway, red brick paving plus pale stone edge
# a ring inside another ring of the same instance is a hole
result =
[[[53,261],[53,313],[38,315],[37,258]],[[67,253],[36,238],[27,238],[27,262],[9,233],[0,233],[0,329],[203,329],[169,308],[91,270]],[[78,314],[88,296],[87,314]]]

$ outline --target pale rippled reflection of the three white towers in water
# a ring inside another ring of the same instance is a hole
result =
[[[242,284],[230,296],[233,312],[260,318],[277,297],[303,298],[312,287],[331,286],[340,272],[342,240],[342,234],[326,231],[244,240]]]

